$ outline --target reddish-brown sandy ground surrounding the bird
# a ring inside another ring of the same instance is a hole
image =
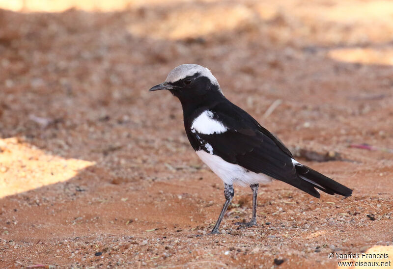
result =
[[[88,2],[0,10],[1,268],[337,268],[329,253],[365,251],[393,264],[392,2]],[[208,66],[353,196],[274,182],[241,228],[252,193],[235,187],[222,234],[205,235],[223,184],[179,102],[148,92],[182,63]]]

